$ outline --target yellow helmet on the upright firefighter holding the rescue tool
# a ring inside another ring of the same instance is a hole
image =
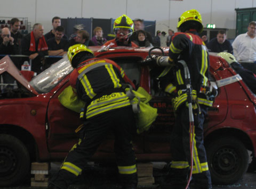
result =
[[[191,10],[183,12],[179,18],[177,28],[182,31],[181,28],[183,28],[184,25],[186,25],[187,21],[195,21],[195,23],[197,25],[197,32],[201,33],[203,31],[202,17],[201,17],[201,14],[197,10],[191,9]]]

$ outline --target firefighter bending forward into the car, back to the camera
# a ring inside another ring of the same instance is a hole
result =
[[[114,149],[122,188],[137,188],[131,143],[137,128],[130,99],[123,88],[124,84],[134,86],[133,83],[115,62],[94,58],[93,51],[85,45],[69,47],[67,56],[75,68],[70,75],[70,85],[77,97],[85,102],[81,113],[84,125],[78,127],[79,141],[69,151],[49,188],[68,188],[111,132],[115,135]]]

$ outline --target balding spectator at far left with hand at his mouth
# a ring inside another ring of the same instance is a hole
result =
[[[4,55],[12,55],[14,54],[14,39],[11,37],[11,32],[9,28],[3,28],[1,31],[1,38],[0,38],[0,54]],[[1,57],[2,58],[2,57]],[[2,74],[3,76],[3,82],[5,84],[7,83],[13,83],[14,79],[13,77],[7,73],[4,72]],[[7,85],[7,87],[10,87],[10,85]]]

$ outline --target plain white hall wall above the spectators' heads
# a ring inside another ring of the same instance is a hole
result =
[[[26,17],[31,25],[42,23],[45,33],[52,28],[53,16],[115,19],[122,14],[131,19],[156,20],[156,30],[176,31],[179,16],[191,8],[202,14],[204,26],[215,23],[217,28],[235,29],[235,8],[256,7],[256,0],[0,0],[0,3],[0,19]]]

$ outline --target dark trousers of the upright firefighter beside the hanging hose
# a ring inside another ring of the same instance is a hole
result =
[[[211,175],[207,165],[206,152],[203,142],[203,123],[207,107],[201,105],[193,110],[194,115],[194,146],[193,146],[193,182],[197,189],[212,188]],[[190,171],[190,138],[189,138],[189,110],[181,105],[175,117],[175,125],[171,136],[172,163],[169,183],[173,188],[184,189],[188,182]]]

